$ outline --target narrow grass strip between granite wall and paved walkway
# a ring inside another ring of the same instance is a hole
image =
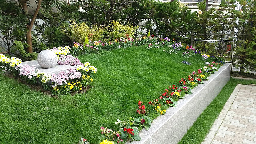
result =
[[[256,84],[256,81],[231,78],[178,144],[200,144],[203,142],[237,84],[248,85],[250,83]]]

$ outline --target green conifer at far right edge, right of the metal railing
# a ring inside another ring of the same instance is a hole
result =
[[[235,49],[236,67],[239,73],[245,70],[256,71],[256,1],[238,1],[242,5],[239,13],[237,48]],[[247,34],[247,35],[243,35]]]

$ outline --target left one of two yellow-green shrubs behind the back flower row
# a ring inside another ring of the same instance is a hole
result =
[[[61,32],[72,41],[83,43],[86,38],[92,41],[101,39],[103,37],[104,28],[97,25],[89,27],[84,22],[76,23],[76,21],[70,21],[69,26],[61,26]]]

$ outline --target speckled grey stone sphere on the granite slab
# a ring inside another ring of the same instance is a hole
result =
[[[51,50],[43,50],[37,56],[37,62],[42,68],[51,68],[57,65],[57,55]]]

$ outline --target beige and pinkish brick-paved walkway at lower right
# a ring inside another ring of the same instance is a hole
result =
[[[256,85],[237,85],[202,144],[256,144]]]

